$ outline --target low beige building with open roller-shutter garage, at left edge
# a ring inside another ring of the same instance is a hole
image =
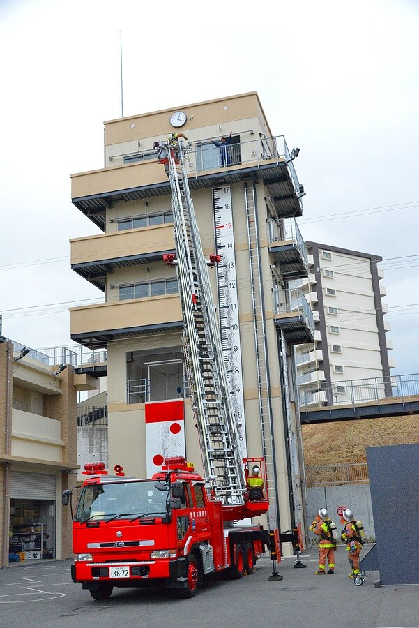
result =
[[[0,336],[0,567],[73,555],[61,491],[77,480],[77,390],[90,380]]]

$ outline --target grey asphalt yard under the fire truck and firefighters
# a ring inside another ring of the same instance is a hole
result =
[[[278,565],[282,581],[268,581],[272,564],[262,558],[251,576],[206,583],[192,599],[150,588],[114,589],[106,601],[71,581],[70,560],[12,565],[0,570],[0,627],[419,628],[419,585],[376,589],[370,572],[356,587],[343,547],[333,575],[314,575],[315,547],[301,560],[305,569],[294,569],[295,557]]]

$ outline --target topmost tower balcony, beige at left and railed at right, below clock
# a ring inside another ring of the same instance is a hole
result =
[[[186,167],[192,191],[243,181],[262,181],[277,216],[302,215],[300,197],[303,190],[283,135],[230,144],[231,163],[224,167],[219,163],[220,150],[211,142],[195,142],[190,147]],[[137,155],[138,161],[134,163],[71,175],[73,204],[102,230],[105,229],[106,210],[115,202],[170,194],[167,175],[157,158],[142,160],[146,158],[145,154]]]

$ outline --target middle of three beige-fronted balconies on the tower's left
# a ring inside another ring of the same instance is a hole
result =
[[[174,253],[174,244],[162,246],[169,242],[174,243],[173,223],[75,238],[70,240],[71,268],[105,291],[107,273],[161,261],[164,253]]]

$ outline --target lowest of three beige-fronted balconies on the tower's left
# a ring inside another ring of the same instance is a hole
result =
[[[89,348],[109,341],[183,329],[178,294],[70,308],[73,341]]]

